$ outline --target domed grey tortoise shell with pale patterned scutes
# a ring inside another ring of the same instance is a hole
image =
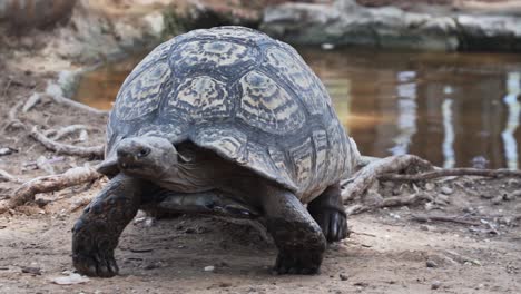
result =
[[[189,140],[301,199],[351,174],[357,159],[327,91],[296,50],[243,27],[180,35],[136,66],[110,114],[107,160],[136,136]]]

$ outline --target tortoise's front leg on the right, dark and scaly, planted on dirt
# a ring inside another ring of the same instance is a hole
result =
[[[291,192],[268,187],[262,199],[267,229],[278,248],[275,271],[278,274],[317,273],[326,248],[321,227]]]

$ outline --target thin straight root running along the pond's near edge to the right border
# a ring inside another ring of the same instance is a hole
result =
[[[480,177],[521,177],[521,170],[512,170],[507,168],[500,169],[480,169],[480,168],[445,168],[435,169],[414,175],[381,175],[379,180],[395,180],[395,182],[419,182],[439,177],[451,176],[480,176]]]

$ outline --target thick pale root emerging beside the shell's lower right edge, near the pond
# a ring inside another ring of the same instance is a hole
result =
[[[361,170],[356,171],[353,177],[341,183],[344,187],[342,198],[345,202],[356,198],[362,195],[376,178],[383,174],[396,173],[416,167],[419,169],[432,169],[431,163],[414,155],[399,155],[372,160]]]

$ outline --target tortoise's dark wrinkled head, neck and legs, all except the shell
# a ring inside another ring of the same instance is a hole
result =
[[[122,173],[100,192],[72,229],[72,261],[78,272],[101,277],[118,273],[114,249],[139,208],[263,217],[278,248],[274,267],[278,274],[317,273],[326,242],[347,235],[340,184],[324,190],[306,209],[292,192],[252,171],[215,155],[187,158],[167,143],[138,138],[118,147]],[[154,177],[149,170],[155,170]],[[173,175],[173,170],[179,173]]]

